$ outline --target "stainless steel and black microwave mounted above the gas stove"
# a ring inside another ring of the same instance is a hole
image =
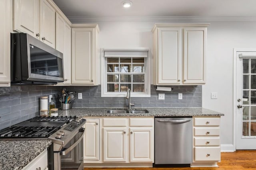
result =
[[[26,33],[11,33],[11,83],[64,82],[63,54]]]

